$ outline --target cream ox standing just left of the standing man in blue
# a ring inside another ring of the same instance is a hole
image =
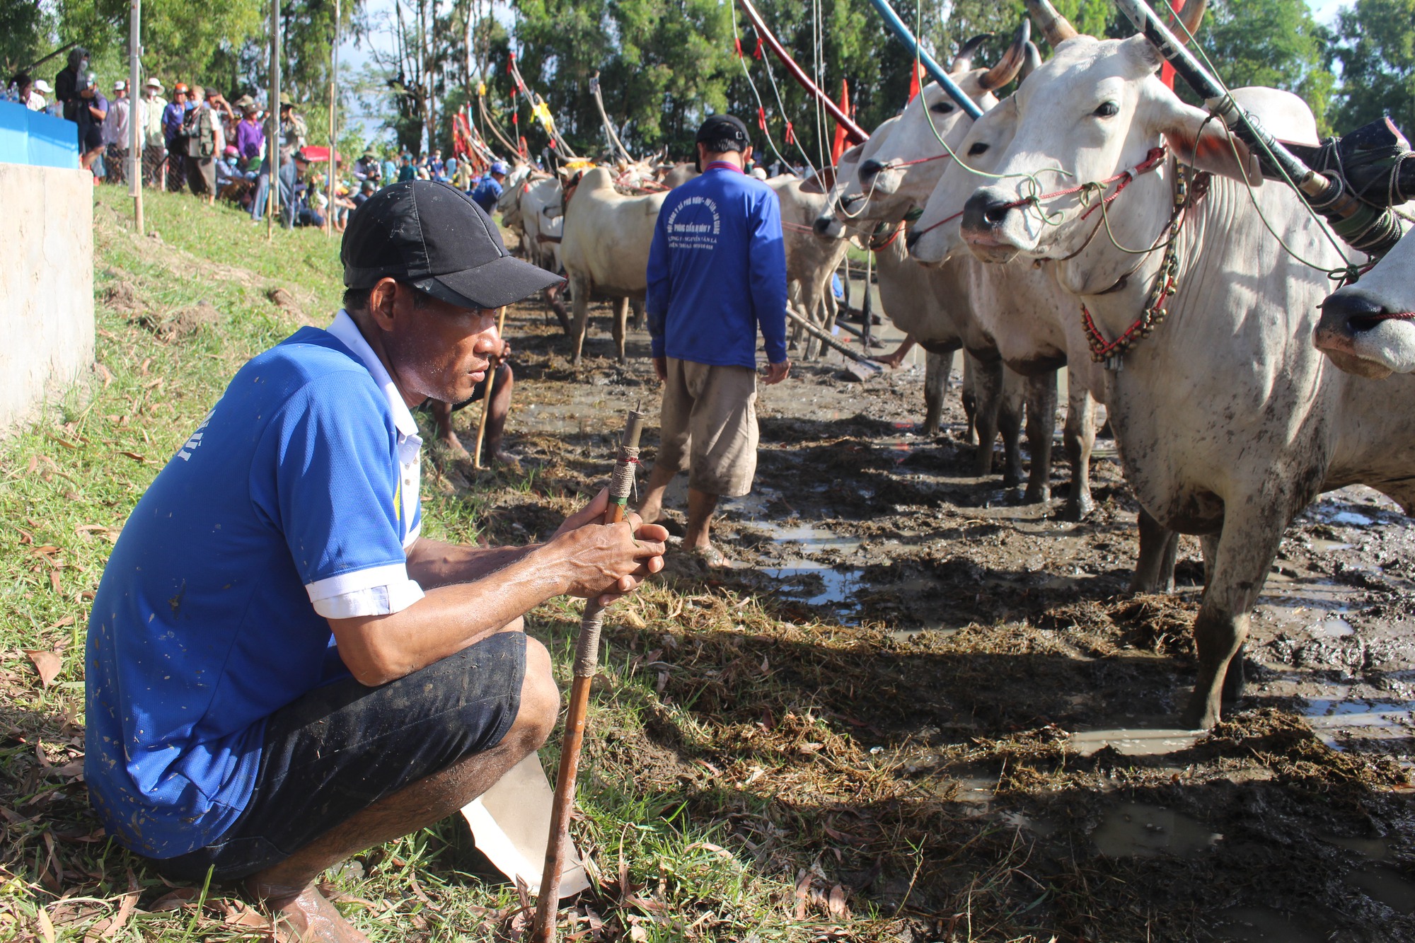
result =
[[[664,193],[625,197],[614,188],[614,171],[587,170],[565,195],[565,236],[560,259],[573,300],[574,362],[580,362],[590,317],[590,295],[608,295],[614,304],[614,345],[624,355],[630,299],[642,302],[648,292],[648,248]]]

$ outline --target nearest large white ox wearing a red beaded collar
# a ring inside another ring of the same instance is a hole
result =
[[[1099,236],[1105,219],[1082,219],[1074,194],[1047,200],[1047,221],[1017,205],[1030,193],[1026,181],[1054,181],[1057,167],[1071,185],[1107,180],[1160,142],[1232,176],[1251,173],[1252,161],[1207,113],[1160,84],[1159,57],[1145,38],[1078,37],[1044,0],[1029,6],[1054,17],[1047,38],[1056,54],[1017,91],[1017,132],[998,166],[1006,177],[968,200],[962,232],[986,261],[1054,259],[1058,283],[1085,303],[1108,343],[1139,321],[1166,256],[1173,163],[1138,176],[1108,208],[1109,232]],[[1269,127],[1315,140],[1310,112],[1286,98],[1303,120]],[[1122,351],[1121,370],[1105,372],[1111,422],[1140,504],[1160,524],[1203,535],[1199,678],[1184,714],[1194,728],[1213,726],[1223,699],[1241,694],[1248,612],[1292,517],[1322,490],[1358,481],[1404,507],[1415,501],[1415,409],[1390,409],[1388,395],[1313,348],[1307,338],[1326,275],[1289,258],[1252,201],[1305,258],[1334,268],[1340,256],[1290,191],[1257,184],[1249,197],[1242,183],[1213,178],[1176,241],[1167,317]],[[1122,246],[1156,251],[1121,252],[1109,234]]]

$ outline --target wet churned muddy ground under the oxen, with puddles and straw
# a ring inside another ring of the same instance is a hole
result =
[[[651,463],[647,336],[621,368],[596,313],[582,370],[539,309],[512,313],[509,442],[538,474],[494,537],[548,532],[546,496],[603,476],[640,402]],[[665,705],[720,735],[648,722],[591,756],[686,794],[808,893],[841,884],[893,939],[1415,939],[1415,528],[1398,508],[1360,487],[1309,508],[1255,612],[1240,708],[1208,736],[1169,731],[1201,558],[1184,538],[1177,592],[1126,593],[1136,504],[1114,443],[1095,511],[1067,524],[1060,447],[1053,503],[1022,505],[1000,474],[971,476],[957,391],[925,438],[921,365],[860,384],[841,362],[761,391],[757,488],[715,531],[739,566],[679,554],[668,579],[692,612],[608,630],[661,665]],[[753,598],[770,617],[737,623]]]

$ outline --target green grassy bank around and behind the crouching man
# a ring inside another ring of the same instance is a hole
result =
[[[166,194],[147,198],[149,231],[160,238],[139,238],[129,207],[113,190],[98,194],[99,367],[0,443],[0,937],[76,940],[113,929],[112,939],[222,940],[258,932],[256,915],[229,892],[212,889],[205,906],[183,906],[181,895],[194,892],[170,896],[98,830],[78,776],[83,636],[112,541],[167,456],[248,357],[301,320],[321,323],[337,306],[338,244],[317,231],[277,232],[266,242],[265,227],[241,214]],[[267,292],[276,286],[307,314],[272,303]],[[437,480],[436,470],[429,480]],[[492,491],[531,488],[529,481],[488,484]],[[483,504],[475,496],[427,491],[430,534],[477,535]],[[572,497],[550,500],[570,507]],[[655,589],[637,606],[625,619],[648,627],[669,622],[682,602]],[[536,616],[532,631],[552,643],[566,681],[574,610],[552,600]],[[28,650],[59,660],[48,685]],[[638,677],[642,657],[611,651],[608,661],[611,694],[599,699],[591,728],[628,745],[641,738],[645,714],[662,718],[674,708],[658,702],[655,673]],[[582,780],[587,820],[580,841],[607,872],[593,903],[607,922],[596,939],[620,939],[633,926],[641,927],[633,939],[781,937],[795,936],[792,926],[807,929],[785,916],[792,893],[781,878],[794,879],[790,868],[764,878],[713,841],[724,838],[686,825],[681,801],[613,772],[613,759],[607,775]],[[633,756],[620,759],[634,765]],[[457,874],[457,838],[443,825],[365,855],[359,868],[335,878],[345,912],[375,939],[490,939],[515,898]],[[125,903],[120,926],[110,927]]]

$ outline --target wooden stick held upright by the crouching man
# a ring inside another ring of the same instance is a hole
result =
[[[610,479],[610,503],[604,508],[604,522],[624,520],[628,494],[634,490],[634,469],[638,466],[638,436],[644,430],[644,413],[630,409],[614,459]],[[570,810],[574,807],[574,777],[580,772],[580,748],[584,745],[584,715],[590,709],[590,681],[600,661],[600,629],[604,607],[597,599],[584,602],[580,637],[574,644],[574,682],[570,687],[570,707],[565,714],[565,739],[560,742],[560,772],[555,777],[555,806],[550,810],[550,842],[545,850],[545,874],[536,899],[532,943],[553,943],[555,916],[560,908],[560,869],[570,847]]]

